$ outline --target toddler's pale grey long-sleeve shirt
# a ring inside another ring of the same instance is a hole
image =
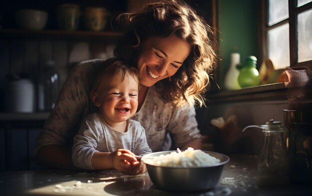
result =
[[[138,121],[128,119],[127,131],[119,132],[110,127],[98,113],[86,117],[74,137],[72,161],[75,167],[92,170],[91,158],[95,152],[130,150],[135,155],[152,153],[145,130]]]

